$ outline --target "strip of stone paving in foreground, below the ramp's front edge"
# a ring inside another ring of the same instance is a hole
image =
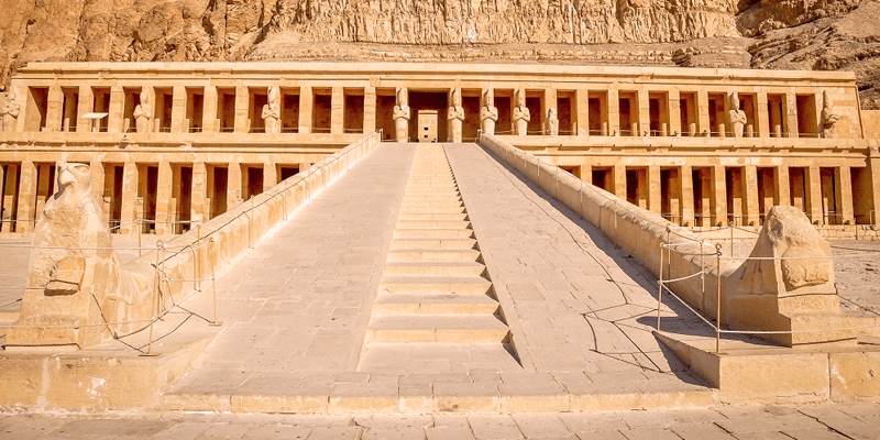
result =
[[[877,439],[880,404],[516,415],[0,415],[0,440]]]

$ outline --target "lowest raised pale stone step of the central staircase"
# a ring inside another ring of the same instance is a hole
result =
[[[507,324],[492,316],[385,316],[366,328],[369,343],[502,343]]]

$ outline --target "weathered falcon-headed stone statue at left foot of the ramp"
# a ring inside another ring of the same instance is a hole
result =
[[[34,230],[21,315],[7,336],[9,345],[82,349],[146,327],[153,312],[153,271],[122,266],[101,200],[91,190],[90,166],[62,162],[56,176],[58,190]]]

